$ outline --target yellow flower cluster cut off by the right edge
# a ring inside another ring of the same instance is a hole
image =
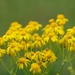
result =
[[[59,43],[69,51],[75,51],[75,27],[67,29],[66,34],[59,40]]]

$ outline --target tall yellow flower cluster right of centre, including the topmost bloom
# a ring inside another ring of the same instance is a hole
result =
[[[57,16],[56,21],[54,19],[49,20],[49,24],[43,28],[42,38],[46,42],[57,42],[59,37],[64,35],[64,25],[68,21],[64,15]]]

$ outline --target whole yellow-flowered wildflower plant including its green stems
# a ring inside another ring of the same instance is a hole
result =
[[[50,19],[45,27],[36,21],[30,21],[25,27],[18,22],[11,23],[7,32],[0,37],[0,63],[9,75],[17,75],[19,70],[24,75],[54,74],[60,57],[61,68],[55,75],[62,75],[66,63],[69,64],[68,71],[74,75],[75,27],[64,31],[67,22],[68,19],[59,14],[56,20]],[[9,68],[4,56],[10,60]],[[50,67],[52,64],[54,66]]]

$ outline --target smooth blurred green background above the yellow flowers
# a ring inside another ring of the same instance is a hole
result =
[[[58,14],[64,14],[69,19],[65,28],[73,27],[75,0],[0,0],[0,36],[5,34],[13,21],[18,21],[23,26],[30,20],[46,25],[50,18],[56,18]],[[1,64],[0,74],[6,74]]]

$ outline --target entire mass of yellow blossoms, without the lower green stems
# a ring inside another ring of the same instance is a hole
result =
[[[11,23],[5,35],[0,37],[0,58],[6,54],[15,59],[19,69],[30,66],[29,71],[33,74],[42,72],[42,66],[47,68],[47,64],[57,59],[52,49],[48,48],[52,42],[59,42],[70,51],[75,49],[75,27],[68,29],[60,39],[67,21],[63,14],[59,14],[56,20],[50,19],[44,28],[36,21],[30,21],[25,27],[18,22]],[[40,28],[41,35],[38,33]]]

